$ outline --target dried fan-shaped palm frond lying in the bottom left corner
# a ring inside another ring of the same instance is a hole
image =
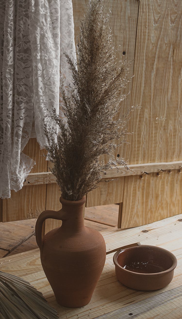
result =
[[[0,271],[0,319],[56,319],[42,293],[27,281]]]

